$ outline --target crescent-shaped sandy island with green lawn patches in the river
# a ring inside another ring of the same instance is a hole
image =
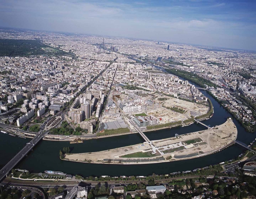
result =
[[[148,164],[186,160],[216,153],[231,145],[236,138],[237,128],[228,119],[213,129],[101,152],[67,154],[64,160],[97,164]]]

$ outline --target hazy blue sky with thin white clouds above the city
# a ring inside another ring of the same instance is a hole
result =
[[[0,0],[0,27],[256,50],[256,0]]]

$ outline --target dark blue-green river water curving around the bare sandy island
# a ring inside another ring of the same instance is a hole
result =
[[[182,79],[182,78],[181,78]],[[191,83],[191,82],[190,82]],[[194,84],[194,83],[193,83]],[[196,87],[198,85],[194,84]],[[202,93],[210,98],[214,106],[214,115],[203,123],[211,126],[220,125],[224,123],[228,117],[231,117],[213,97],[206,91]],[[252,142],[256,134],[249,133],[234,120],[238,130],[237,140],[246,144]],[[159,131],[146,132],[145,134],[150,140],[157,140],[163,138],[174,137],[175,133],[186,134],[195,131],[204,130],[200,124],[192,124],[186,127],[167,128]],[[11,158],[18,153],[18,151],[26,145],[27,139],[12,137],[10,135],[0,133],[0,168],[2,168]],[[70,144],[62,141],[45,141],[42,140],[36,145],[33,151],[29,152],[15,168],[27,169],[30,172],[44,172],[45,170],[62,171],[67,174],[87,176],[132,176],[140,175],[147,176],[155,174],[169,174],[174,171],[186,171],[196,168],[206,167],[210,164],[224,162],[226,160],[234,159],[240,155],[245,149],[232,145],[221,152],[194,158],[190,160],[156,163],[156,164],[142,164],[142,165],[122,165],[122,164],[89,164],[63,161],[59,159],[59,151],[63,147],[70,147],[72,153],[97,152],[101,150],[108,150],[117,147],[124,147],[142,143],[144,140],[139,134],[120,135],[109,138],[86,140],[79,144]]]

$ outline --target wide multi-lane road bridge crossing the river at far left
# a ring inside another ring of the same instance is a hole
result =
[[[48,131],[43,132],[39,131],[36,136],[27,143],[27,145],[20,150],[20,152],[13,157],[12,160],[10,160],[1,170],[0,170],[0,182],[1,180],[9,174],[9,172],[12,170],[13,167],[15,167],[18,162],[20,162],[24,156],[30,152],[33,147],[48,133]]]

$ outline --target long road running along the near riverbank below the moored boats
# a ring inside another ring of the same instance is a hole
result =
[[[177,179],[189,179],[189,178],[199,178],[199,177],[206,177],[206,178],[214,178],[214,176],[202,176],[202,175],[194,175],[194,176],[182,176],[182,177],[175,177],[175,178],[166,178],[166,179],[155,179],[155,183],[168,183],[171,180],[177,180]],[[225,177],[224,177],[225,178]],[[227,178],[234,178],[234,177],[227,177]],[[36,187],[56,187],[56,186],[67,186],[67,187],[73,187],[78,184],[91,184],[91,185],[96,185],[96,184],[105,184],[107,183],[108,185],[115,185],[115,184],[130,184],[130,183],[148,183],[148,180],[97,180],[97,181],[82,181],[82,182],[77,182],[77,181],[59,181],[59,182],[51,182],[51,181],[45,181],[42,182],[39,180],[37,181],[32,181],[32,180],[18,180],[18,179],[13,179],[13,178],[6,178],[3,180],[1,185],[26,185],[26,186],[36,186]]]

